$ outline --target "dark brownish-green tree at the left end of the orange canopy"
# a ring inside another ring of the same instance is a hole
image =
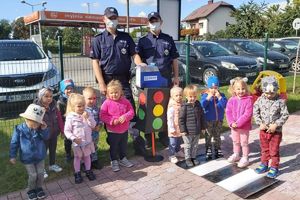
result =
[[[18,19],[14,20],[11,26],[14,39],[29,38],[29,26],[25,26],[23,17],[19,17]]]

